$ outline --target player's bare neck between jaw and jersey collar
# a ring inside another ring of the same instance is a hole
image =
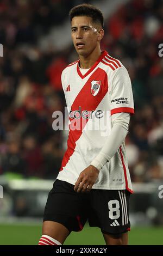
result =
[[[101,49],[95,49],[89,56],[80,56],[80,68],[82,69],[89,69],[93,64],[95,64],[96,60],[101,56]]]

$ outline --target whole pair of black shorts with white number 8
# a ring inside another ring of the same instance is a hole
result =
[[[120,234],[129,230],[127,190],[95,190],[77,193],[74,185],[55,180],[48,194],[43,221],[55,221],[70,232],[83,229],[88,220],[90,227],[99,227],[103,233]]]

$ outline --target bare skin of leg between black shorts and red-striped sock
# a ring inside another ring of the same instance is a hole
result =
[[[63,244],[70,234],[70,231],[61,223],[54,221],[44,221],[42,225],[42,235],[48,235]]]

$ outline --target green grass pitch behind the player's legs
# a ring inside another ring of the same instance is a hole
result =
[[[0,245],[37,245],[41,225],[0,224]],[[163,245],[163,227],[133,227],[129,232],[130,245]],[[99,228],[85,225],[81,232],[72,232],[65,245],[104,245]]]

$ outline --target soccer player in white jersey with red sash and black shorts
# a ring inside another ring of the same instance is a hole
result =
[[[133,192],[125,148],[134,114],[130,78],[120,60],[101,51],[101,10],[81,4],[71,9],[70,20],[79,60],[61,75],[70,114],[67,151],[48,194],[39,245],[62,245],[87,220],[101,228],[106,245],[127,245]]]

